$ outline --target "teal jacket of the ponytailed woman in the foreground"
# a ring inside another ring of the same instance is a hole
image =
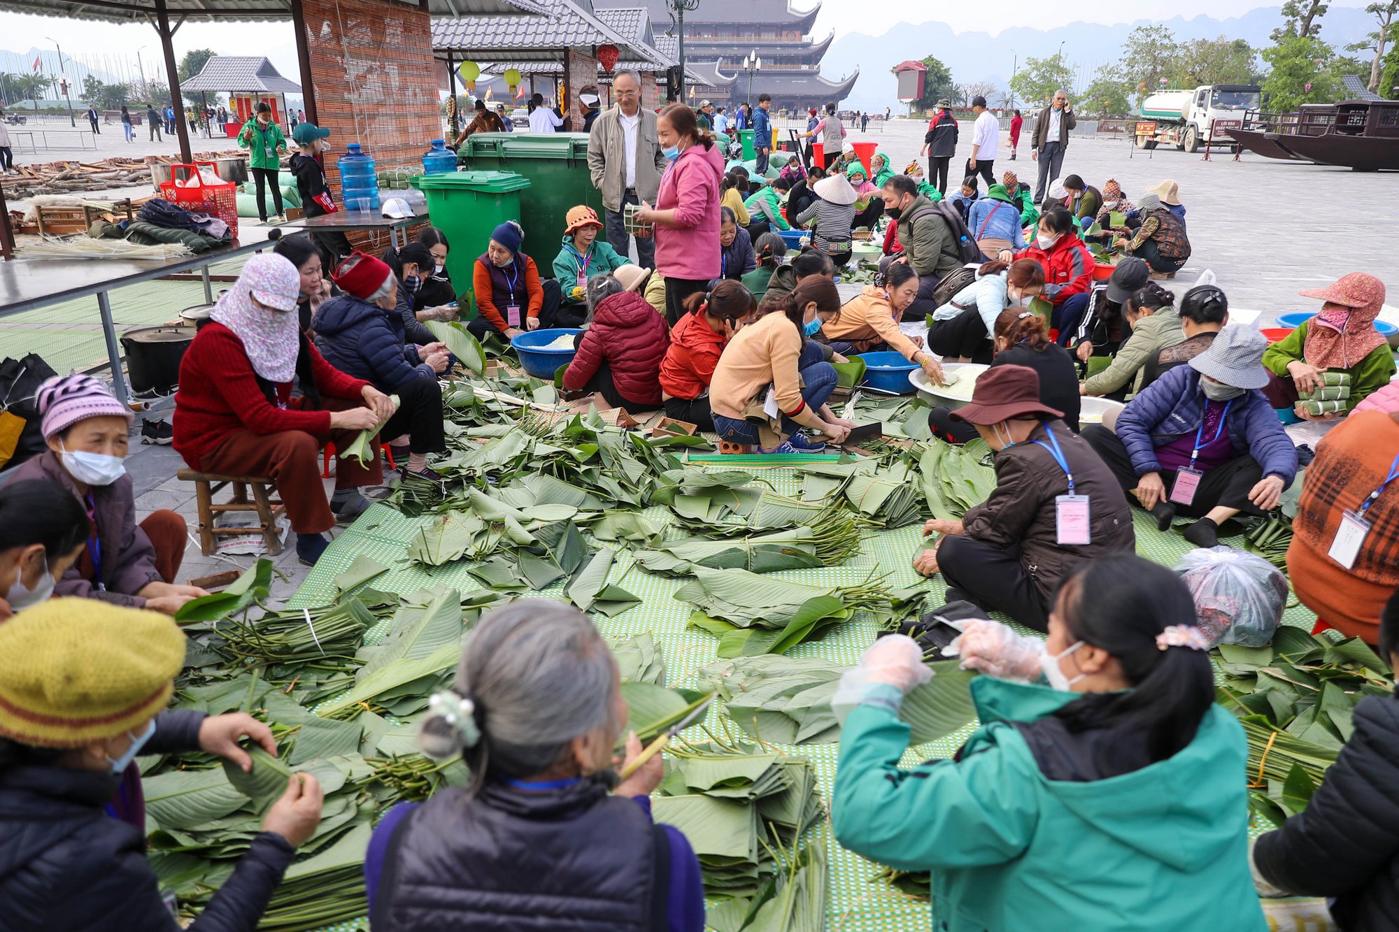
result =
[[[939,932],[1263,932],[1248,869],[1248,750],[1219,705],[1174,757],[1107,779],[1045,778],[1014,722],[1076,694],[989,676],[958,760],[901,768],[900,691],[872,690],[841,730],[837,840],[932,870]]]

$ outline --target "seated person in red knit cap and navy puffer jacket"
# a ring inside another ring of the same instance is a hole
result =
[[[399,281],[379,259],[355,252],[336,269],[334,283],[344,294],[320,305],[311,322],[316,348],[341,372],[397,396],[399,409],[379,434],[385,441],[407,434],[411,452],[404,469],[436,479],[427,456],[446,449],[436,378],[448,367],[446,346],[404,343]]]

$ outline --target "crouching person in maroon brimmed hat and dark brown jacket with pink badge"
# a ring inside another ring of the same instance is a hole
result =
[[[975,425],[996,451],[996,488],[961,521],[929,521],[923,533],[943,537],[914,568],[940,571],[949,602],[1046,631],[1055,589],[1080,561],[1136,549],[1132,514],[1112,472],[1059,420],[1062,411],[1039,400],[1034,369],[986,369],[971,403],[951,417]]]

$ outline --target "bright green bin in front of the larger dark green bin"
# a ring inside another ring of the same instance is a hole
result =
[[[485,252],[492,230],[520,216],[520,192],[529,190],[530,181],[515,172],[469,171],[418,175],[409,183],[427,197],[428,220],[452,243],[446,270],[460,295],[462,316],[473,318],[476,257]]]

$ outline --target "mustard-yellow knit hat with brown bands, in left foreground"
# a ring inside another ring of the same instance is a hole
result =
[[[0,624],[0,736],[81,747],[165,708],[185,634],[157,612],[49,599]]]

